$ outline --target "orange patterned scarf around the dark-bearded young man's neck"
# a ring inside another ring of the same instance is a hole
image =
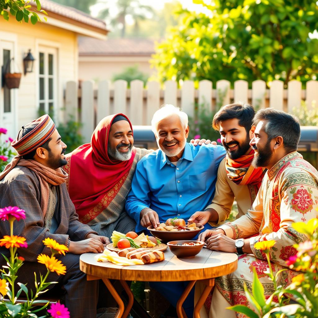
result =
[[[259,190],[266,168],[255,168],[251,165],[254,158],[252,149],[248,155],[240,156],[238,159],[231,159],[226,155],[225,169],[227,177],[239,185],[256,185]]]

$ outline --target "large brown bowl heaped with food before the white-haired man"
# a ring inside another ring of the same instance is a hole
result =
[[[153,225],[147,227],[150,233],[162,240],[163,242],[176,240],[193,239],[199,232],[204,229],[204,226],[199,223],[188,222],[180,218],[169,218],[165,223],[161,223],[156,229]]]

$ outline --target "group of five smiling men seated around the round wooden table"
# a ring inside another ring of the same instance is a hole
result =
[[[177,217],[203,224],[198,239],[211,250],[239,253],[238,269],[216,279],[207,311],[200,313],[235,317],[226,308],[249,305],[244,283],[251,289],[253,268],[266,285],[265,296],[273,291],[263,273],[266,259],[254,244],[276,240],[270,255],[277,273],[296,253],[293,244],[306,240],[292,223],[318,216],[318,172],[297,152],[299,121],[271,108],[255,114],[249,104],[225,105],[212,121],[222,146],[187,143],[188,116],[172,105],[157,110],[151,125],[156,151],[135,148],[129,119],[114,114],[100,121],[90,143],[66,156],[66,145],[48,115],[22,127],[12,142],[18,156],[0,174],[0,208],[26,211],[24,222],[14,225],[14,234],[29,245],[18,249],[25,259],[19,281],[32,286],[33,272],[44,272],[36,258],[48,252],[42,241],[55,239],[69,247],[60,256],[67,273],[51,273],[49,279],[63,286],[71,317],[96,317],[98,282],[86,281],[79,255],[102,252],[114,230],[145,232],[149,225]],[[236,220],[224,223],[234,200]],[[0,222],[1,236],[9,233],[8,222]],[[281,272],[280,284],[287,286],[294,275],[292,270]],[[151,284],[169,294],[174,306],[185,285]],[[194,301],[192,290],[184,303],[188,317]]]

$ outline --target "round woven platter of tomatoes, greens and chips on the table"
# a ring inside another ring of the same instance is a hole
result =
[[[164,251],[167,249],[167,245],[161,243],[159,239],[156,239],[153,236],[145,235],[144,233],[138,235],[135,232],[123,234],[113,231],[110,239],[112,243],[108,244],[106,248],[114,252],[125,250],[128,253],[140,248],[146,249],[147,251]]]

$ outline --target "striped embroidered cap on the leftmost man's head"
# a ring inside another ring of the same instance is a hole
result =
[[[28,125],[35,126],[29,133],[22,137],[24,128]],[[22,126],[16,140],[11,143],[11,146],[17,150],[20,156],[30,153],[44,144],[55,130],[55,125],[49,115],[43,115],[40,118],[31,121],[29,124]]]

